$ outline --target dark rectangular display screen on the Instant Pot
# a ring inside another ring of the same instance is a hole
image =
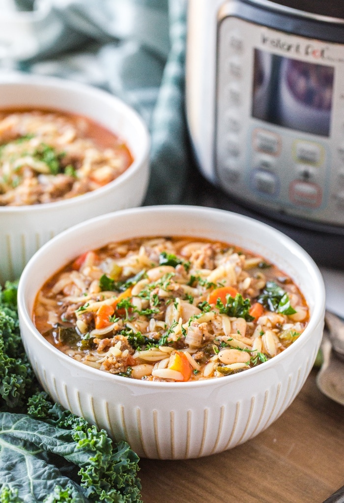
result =
[[[334,68],[254,50],[252,116],[328,136]]]

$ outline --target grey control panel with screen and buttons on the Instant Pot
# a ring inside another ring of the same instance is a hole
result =
[[[344,223],[343,45],[218,23],[215,165],[246,204]]]

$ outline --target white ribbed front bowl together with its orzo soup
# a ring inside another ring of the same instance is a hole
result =
[[[316,265],[279,231],[158,206],[53,238],[18,306],[54,400],[142,457],[181,459],[233,448],[283,413],[314,363],[325,301]]]

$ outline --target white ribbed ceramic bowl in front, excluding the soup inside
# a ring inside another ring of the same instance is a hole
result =
[[[133,236],[220,239],[262,255],[303,292],[310,321],[289,348],[245,372],[187,383],[114,376],[72,360],[34,327],[37,291],[85,250]],[[54,257],[54,261],[52,261]],[[42,386],[75,414],[126,440],[141,457],[197,458],[242,444],[273,423],[304,384],[320,345],[325,293],[321,274],[289,237],[251,218],[192,206],[119,211],[69,229],[44,245],[25,268],[18,307],[24,346]]]

